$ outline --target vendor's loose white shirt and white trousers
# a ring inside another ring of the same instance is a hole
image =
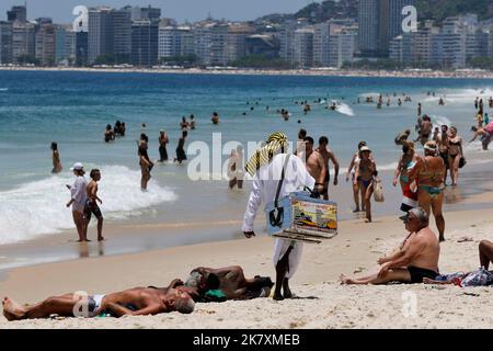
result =
[[[264,201],[264,204],[268,204],[275,200],[286,156],[286,154],[274,156],[268,165],[261,167],[256,171],[252,192],[250,193],[249,203],[244,213],[243,231],[253,231],[253,222],[255,220],[256,212],[262,201]],[[286,166],[279,199],[293,192],[303,190],[303,186],[313,189],[314,182],[314,179],[308,173],[301,159],[295,155],[290,155]],[[286,273],[287,279],[290,279],[298,269],[301,260],[302,244],[278,238],[274,245],[274,265],[284,257],[290,245],[294,248],[289,254],[289,271]]]

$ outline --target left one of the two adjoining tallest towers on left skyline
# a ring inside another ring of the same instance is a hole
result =
[[[113,56],[114,34],[111,8],[89,9],[88,60],[93,64],[101,56]]]

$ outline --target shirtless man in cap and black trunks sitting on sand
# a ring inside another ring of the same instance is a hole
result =
[[[378,260],[381,264],[379,273],[358,279],[341,275],[341,284],[415,284],[423,283],[424,278],[436,279],[440,246],[428,228],[428,215],[423,208],[413,208],[404,223],[410,235],[397,253]]]

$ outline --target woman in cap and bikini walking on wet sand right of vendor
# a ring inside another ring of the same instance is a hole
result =
[[[359,149],[360,159],[356,162],[355,180],[353,183],[359,183],[362,199],[365,201],[366,223],[371,223],[371,195],[374,194],[374,181],[378,176],[377,165],[370,157],[371,150],[367,146]]]

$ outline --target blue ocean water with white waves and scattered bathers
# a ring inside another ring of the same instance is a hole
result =
[[[377,110],[376,104],[364,103],[365,97],[376,99],[378,93],[385,101],[389,94],[391,105]],[[403,93],[412,102],[398,106]],[[73,224],[65,206],[69,200],[65,184],[73,181],[69,168],[76,161],[87,170],[102,171],[100,196],[106,224],[241,220],[250,184],[230,192],[226,179],[192,181],[187,177],[191,162],[156,165],[149,191],[140,191],[136,148],[140,133],[148,134],[150,157],[158,159],[159,131],[165,129],[173,158],[181,117],[190,114],[195,115],[197,128],[188,132],[185,149],[193,152],[200,141],[211,148],[213,135],[220,136],[222,150],[215,151],[222,154],[222,162],[233,148],[225,145],[228,141],[246,146],[277,131],[296,140],[300,127],[316,140],[326,135],[341,162],[340,184],[332,196],[340,203],[341,218],[353,216],[351,184],[344,176],[357,143],[366,140],[383,171],[388,194],[375,213],[399,214],[400,190],[391,186],[390,177],[401,150],[393,138],[404,128],[411,128],[415,137],[417,102],[434,124],[455,125],[469,140],[475,123],[474,99],[490,95],[493,80],[478,79],[0,71],[0,246],[54,234],[74,236],[67,231]],[[439,97],[445,106],[438,105]],[[305,100],[311,105],[308,115],[295,103]],[[341,104],[339,112],[325,109],[330,101]],[[290,112],[288,122],[276,113],[280,109]],[[485,110],[492,112],[488,101]],[[215,111],[219,125],[210,122]],[[105,125],[117,120],[126,123],[126,136],[105,144]],[[50,173],[51,141],[58,143],[64,165],[57,176]],[[463,189],[467,181],[477,183],[482,170],[491,170],[493,161],[492,152],[481,151],[479,141],[467,145],[466,155]],[[209,166],[213,176],[220,177],[221,165]],[[489,180],[490,174],[483,176]]]

